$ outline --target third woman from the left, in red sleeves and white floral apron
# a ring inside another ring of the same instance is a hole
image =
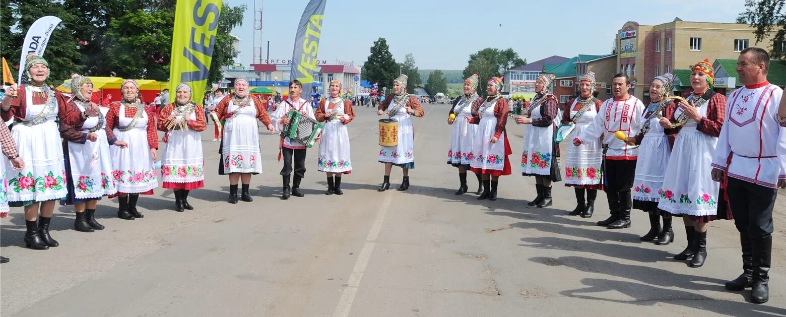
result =
[[[112,146],[112,177],[117,186],[120,219],[133,220],[144,215],[137,210],[139,194],[152,195],[158,187],[156,164],[158,157],[158,134],[156,116],[140,101],[139,85],[126,79],[120,86],[122,95],[119,105],[109,107],[106,115],[107,135],[111,131],[115,138],[128,144],[127,149]],[[112,196],[110,196],[112,197]]]

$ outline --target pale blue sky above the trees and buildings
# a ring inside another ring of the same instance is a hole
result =
[[[242,39],[237,61],[244,65],[253,59],[255,1],[259,0],[227,0],[232,6],[248,6],[244,24],[233,30]],[[262,37],[270,41],[271,59],[292,58],[295,31],[307,3],[264,1]],[[396,61],[413,53],[421,69],[464,69],[469,54],[486,47],[512,47],[527,61],[603,54],[611,52],[617,31],[628,20],[645,25],[674,17],[733,23],[742,11],[742,0],[328,0],[318,59],[362,65],[380,37],[387,39]]]

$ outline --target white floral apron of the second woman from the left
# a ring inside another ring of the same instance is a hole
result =
[[[77,104],[79,111],[85,107]],[[106,116],[108,108],[101,108]],[[85,120],[82,132],[87,133],[98,124],[98,117]],[[68,160],[71,166],[71,177],[74,182],[74,197],[78,199],[97,198],[117,193],[116,182],[112,179],[112,156],[109,154],[109,142],[103,127],[95,132],[95,142],[85,140],[85,144],[68,142]]]

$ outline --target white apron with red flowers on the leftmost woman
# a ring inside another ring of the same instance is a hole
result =
[[[34,118],[48,105],[33,105],[33,90],[27,89],[27,108],[25,117]],[[54,94],[54,91],[49,92]],[[54,101],[54,99],[51,99]],[[57,102],[57,101],[54,101]],[[8,173],[8,201],[50,201],[68,194],[65,186],[65,159],[60,130],[57,128],[57,103],[40,124],[17,123],[11,130],[17,142],[19,157],[24,160],[21,171],[14,170],[6,160]]]

